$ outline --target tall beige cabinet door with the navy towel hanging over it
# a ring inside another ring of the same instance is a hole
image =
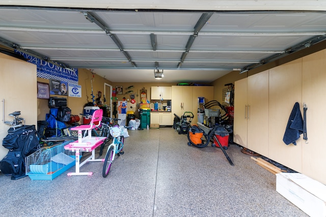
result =
[[[266,156],[302,172],[302,139],[296,141],[297,145],[283,142],[295,102],[302,109],[302,58],[269,70],[269,146]]]

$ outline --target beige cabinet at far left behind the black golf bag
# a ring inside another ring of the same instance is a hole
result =
[[[26,125],[36,126],[38,113],[36,65],[0,53],[0,80],[2,81],[0,114],[4,115],[5,120],[12,121],[13,118],[9,114],[20,111],[20,117],[25,118]],[[7,136],[9,128],[9,125],[0,123],[0,141]],[[7,153],[8,149],[0,145],[0,160]]]

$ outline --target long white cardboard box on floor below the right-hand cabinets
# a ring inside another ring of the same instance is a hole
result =
[[[326,216],[326,185],[301,173],[277,173],[276,191],[310,216]]]

